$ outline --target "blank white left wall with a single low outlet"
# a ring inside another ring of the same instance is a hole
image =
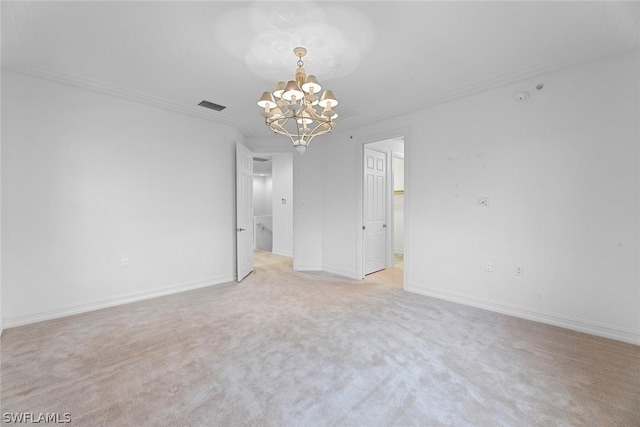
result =
[[[2,88],[5,327],[234,279],[235,130],[5,71]]]

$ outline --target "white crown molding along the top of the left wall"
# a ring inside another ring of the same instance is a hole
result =
[[[208,110],[205,111],[204,109],[202,109],[202,107],[198,107],[196,105],[192,106],[170,101],[165,98],[148,95],[143,92],[138,92],[121,86],[116,86],[111,83],[106,83],[104,81],[79,76],[77,74],[61,70],[54,70],[44,67],[8,67],[5,69],[8,71],[13,71],[44,80],[50,80],[57,83],[63,83],[69,86],[86,89],[92,92],[103,93],[116,98],[151,105],[153,107],[162,108],[164,110],[173,111],[176,113],[186,114],[191,117],[208,120],[218,124],[231,126],[237,129],[243,136],[253,134],[253,129],[247,122],[224,115],[215,115],[219,113],[214,113]]]

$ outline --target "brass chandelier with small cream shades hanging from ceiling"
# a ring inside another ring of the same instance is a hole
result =
[[[288,136],[298,153],[304,154],[313,138],[331,132],[338,117],[333,107],[338,101],[330,90],[318,98],[322,87],[303,67],[307,49],[296,47],[293,53],[298,57],[294,80],[280,81],[273,92],[263,92],[258,106],[264,108],[262,116],[269,129]]]

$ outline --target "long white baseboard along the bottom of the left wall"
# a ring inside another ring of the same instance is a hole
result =
[[[109,298],[101,301],[94,301],[84,304],[74,304],[64,307],[58,307],[51,310],[43,310],[35,313],[22,314],[18,316],[8,316],[2,319],[2,326],[5,328],[13,328],[16,326],[28,325],[31,323],[42,322],[45,320],[58,319],[60,317],[72,316],[74,314],[86,313],[89,311],[101,310],[103,308],[114,307],[122,304],[129,304],[136,301],[142,301],[151,298],[157,298],[165,295],[177,294],[179,292],[191,291],[194,289],[205,288],[207,286],[221,285],[223,283],[235,282],[235,276],[225,276],[216,279],[199,280],[197,282],[181,283],[179,285],[167,288],[156,289],[152,291],[129,294],[115,298]]]

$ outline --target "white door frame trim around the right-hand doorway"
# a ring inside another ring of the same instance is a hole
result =
[[[404,269],[403,269],[403,287],[406,288],[407,284],[411,283],[410,276],[410,266],[411,266],[411,247],[412,247],[412,239],[411,239],[411,215],[410,215],[410,200],[411,200],[411,183],[410,183],[410,168],[411,168],[411,143],[410,143],[410,132],[409,128],[399,128],[388,130],[376,134],[366,135],[356,140],[356,143],[359,145],[359,162],[358,162],[358,197],[356,200],[356,212],[357,212],[357,230],[358,236],[357,246],[356,246],[356,276],[359,279],[364,279],[364,235],[362,230],[362,220],[364,218],[364,147],[366,144],[370,144],[373,142],[384,141],[387,139],[394,138],[402,138],[404,141]],[[393,157],[393,156],[389,156]],[[391,163],[393,163],[393,159],[391,159]],[[392,174],[393,171],[389,170],[389,174]],[[388,180],[392,181],[392,180]],[[389,183],[387,183],[389,185]],[[393,185],[393,184],[391,184]],[[392,193],[393,191],[391,191]],[[387,206],[387,211],[390,207]],[[393,215],[393,213],[391,213]],[[387,217],[388,219],[392,218]],[[391,226],[387,226],[387,238],[389,236],[393,237],[393,224]],[[387,244],[391,242],[393,244],[393,240],[388,240]],[[392,249],[393,250],[393,249]],[[393,260],[391,260],[392,262]]]

